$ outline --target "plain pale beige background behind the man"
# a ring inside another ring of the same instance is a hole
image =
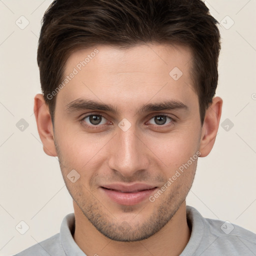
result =
[[[40,92],[40,20],[50,2],[0,0],[0,255],[59,232],[62,218],[73,211],[58,160],[43,152],[33,115],[33,96]],[[206,5],[221,22],[220,122],[228,118],[234,126],[228,131],[220,126],[212,152],[199,158],[187,204],[205,217],[256,233],[256,0],[208,0]],[[29,21],[24,29],[15,23],[21,15]],[[21,118],[29,125],[23,131],[16,127]],[[15,229],[21,220],[29,226],[24,234]]]

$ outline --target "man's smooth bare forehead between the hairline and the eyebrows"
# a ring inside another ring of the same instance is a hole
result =
[[[149,100],[189,100],[190,94],[196,96],[191,57],[189,47],[170,44],[126,49],[98,45],[77,50],[66,61],[57,102],[66,105],[77,98],[90,98],[125,107]]]

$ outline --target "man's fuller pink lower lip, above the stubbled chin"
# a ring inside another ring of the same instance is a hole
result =
[[[123,205],[134,205],[148,198],[156,187],[137,192],[125,193],[100,187],[113,201]]]

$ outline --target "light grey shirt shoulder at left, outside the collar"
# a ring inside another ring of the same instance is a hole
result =
[[[41,241],[38,242],[31,247],[15,254],[14,256],[64,256],[65,253],[62,249],[59,233]]]

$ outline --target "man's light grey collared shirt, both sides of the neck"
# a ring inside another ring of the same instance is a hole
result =
[[[204,218],[189,205],[186,205],[186,216],[192,231],[180,256],[256,255],[255,233],[229,222]],[[74,224],[74,213],[66,215],[59,233],[15,256],[86,256],[72,237]]]

